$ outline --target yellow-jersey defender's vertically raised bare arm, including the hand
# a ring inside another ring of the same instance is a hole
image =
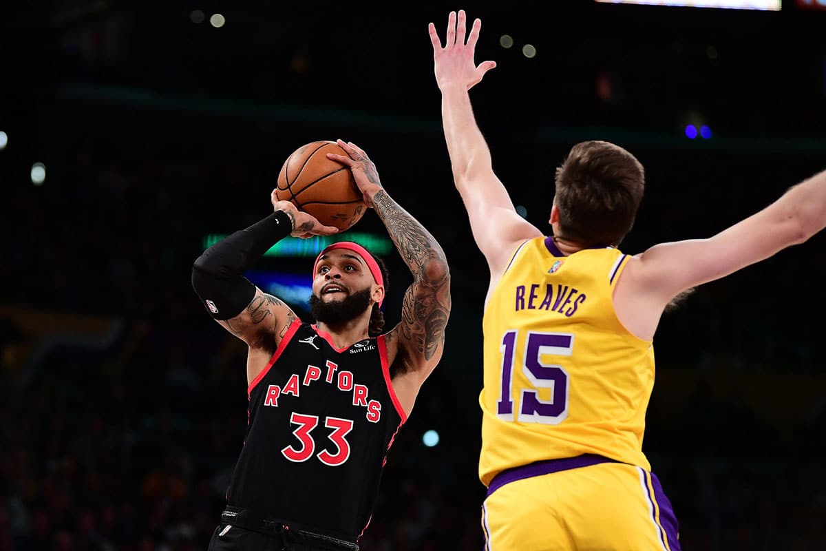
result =
[[[430,23],[436,83],[442,91],[442,121],[448,145],[453,181],[470,217],[473,238],[491,268],[491,285],[505,271],[515,249],[523,241],[542,235],[514,208],[505,186],[493,172],[491,152],[473,117],[468,90],[496,67],[473,60],[482,21],[473,21],[465,42],[465,12],[450,12],[444,47]]]

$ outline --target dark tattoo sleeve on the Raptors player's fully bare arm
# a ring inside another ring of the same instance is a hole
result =
[[[396,249],[413,273],[414,283],[401,305],[401,337],[425,360],[444,343],[450,313],[450,273],[439,243],[383,189],[373,197],[374,208],[387,226]]]

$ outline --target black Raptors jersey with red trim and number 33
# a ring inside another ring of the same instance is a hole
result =
[[[337,350],[294,321],[249,385],[249,425],[227,502],[355,542],[404,420],[384,336]]]

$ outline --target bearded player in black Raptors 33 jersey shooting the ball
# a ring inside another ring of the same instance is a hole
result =
[[[380,335],[387,274],[367,250],[330,245],[313,268],[302,323],[241,274],[287,235],[330,235],[291,202],[207,249],[192,286],[211,315],[249,345],[249,425],[209,545],[229,549],[358,549],[387,449],[444,349],[450,275],[444,252],[382,188],[363,150],[339,140],[364,202],[413,273],[401,322]]]

